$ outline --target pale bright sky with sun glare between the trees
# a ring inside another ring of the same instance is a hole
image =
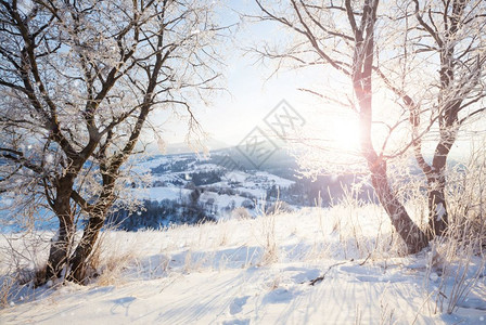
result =
[[[257,12],[254,1],[233,0],[226,3],[218,12],[222,24],[239,23],[239,27],[233,29],[232,39],[221,46],[226,60],[222,73],[227,91],[213,98],[208,106],[201,103],[193,107],[208,138],[226,145],[238,145],[256,127],[270,134],[264,119],[284,100],[303,117],[305,136],[324,139],[331,146],[358,155],[358,125],[353,112],[347,107],[330,105],[314,94],[298,90],[350,89],[350,84],[332,70],[323,68],[280,69],[273,75],[274,63],[263,64],[254,53],[244,49],[264,40],[280,42],[290,36],[276,24],[242,24],[238,12]],[[375,110],[380,108],[383,107],[376,107]],[[181,143],[187,139],[188,129],[183,119],[156,115],[155,120],[163,126],[159,134],[166,143]],[[484,122],[475,127],[486,130]],[[470,150],[471,139],[476,139],[476,142],[477,139],[484,139],[471,132],[466,135],[463,141],[456,143],[452,156],[463,157]],[[210,141],[207,144],[210,148]],[[425,150],[431,154],[433,152],[426,145]]]

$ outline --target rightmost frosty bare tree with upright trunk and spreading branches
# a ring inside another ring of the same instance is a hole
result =
[[[452,145],[461,127],[486,109],[486,2],[413,0],[404,3],[401,13],[401,68],[394,63],[375,69],[408,110],[409,144],[426,177],[432,238],[447,230],[446,168]],[[434,143],[431,162],[424,142]]]

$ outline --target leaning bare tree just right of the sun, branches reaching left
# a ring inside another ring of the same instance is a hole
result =
[[[411,220],[387,176],[385,145],[375,148],[372,141],[373,68],[376,65],[379,0],[363,1],[268,1],[255,0],[261,15],[296,36],[285,48],[257,48],[265,58],[291,60],[297,66],[324,65],[344,76],[356,99],[360,125],[360,151],[371,173],[378,198],[410,253],[424,248],[425,233]],[[353,101],[354,102],[354,101]]]

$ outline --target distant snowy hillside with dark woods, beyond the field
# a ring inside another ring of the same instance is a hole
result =
[[[149,173],[148,188],[132,184],[142,200],[137,213],[122,210],[113,216],[119,229],[137,231],[163,229],[170,224],[194,224],[230,219],[235,214],[256,217],[283,202],[287,210],[329,206],[345,195],[345,186],[360,183],[357,176],[321,176],[317,180],[296,176],[296,161],[280,153],[260,170],[244,166],[235,150],[196,154],[152,155],[137,162],[139,174]],[[229,164],[228,161],[231,161]],[[236,162],[238,161],[238,162]],[[360,183],[359,198],[374,197]]]

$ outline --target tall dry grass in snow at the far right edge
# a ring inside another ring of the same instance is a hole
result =
[[[484,153],[448,172],[449,225],[431,244],[429,274],[440,275],[434,312],[455,312],[474,289],[486,262],[486,160]],[[475,258],[479,257],[479,259]],[[481,260],[477,264],[477,260]]]

